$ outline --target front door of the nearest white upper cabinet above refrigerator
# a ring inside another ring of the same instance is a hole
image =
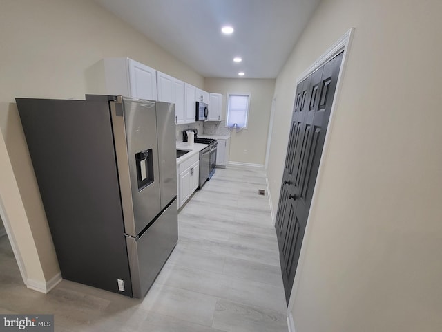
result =
[[[132,98],[157,99],[157,77],[155,69],[133,59],[128,59],[129,81]]]

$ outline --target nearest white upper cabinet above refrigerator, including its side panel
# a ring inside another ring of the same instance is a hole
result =
[[[131,98],[157,99],[155,69],[127,57],[104,59],[106,93]]]

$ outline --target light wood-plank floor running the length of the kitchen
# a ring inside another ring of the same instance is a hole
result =
[[[265,172],[229,167],[178,215],[179,241],[142,300],[63,280],[47,295],[23,286],[0,239],[0,313],[53,313],[55,331],[287,331]]]

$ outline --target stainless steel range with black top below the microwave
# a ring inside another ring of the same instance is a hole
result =
[[[216,150],[218,142],[213,138],[199,138],[197,129],[187,129],[195,133],[195,143],[207,144],[208,147],[200,151],[200,181],[199,189],[202,188],[206,181],[209,181],[216,168]],[[183,142],[187,142],[187,133],[183,131]]]

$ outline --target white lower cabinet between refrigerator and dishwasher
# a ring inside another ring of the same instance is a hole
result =
[[[177,194],[180,208],[198,188],[200,180],[200,154],[184,160],[177,165]]]

